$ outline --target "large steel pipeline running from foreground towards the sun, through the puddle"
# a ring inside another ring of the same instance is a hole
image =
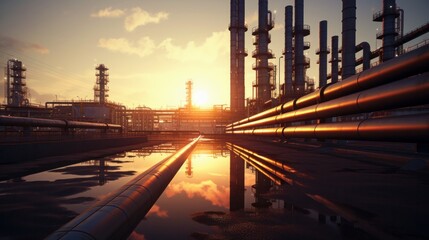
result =
[[[199,139],[135,177],[47,239],[126,239],[176,175]]]

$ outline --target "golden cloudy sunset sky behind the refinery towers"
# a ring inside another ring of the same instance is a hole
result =
[[[272,62],[280,61],[283,69],[284,59],[279,57],[284,49],[284,9],[294,1],[268,2],[275,17],[269,48],[277,58]],[[92,100],[95,66],[104,64],[110,74],[108,100],[127,108],[183,107],[188,80],[193,82],[194,105],[229,106],[229,4],[229,0],[0,0],[0,75],[4,76],[7,60],[16,58],[27,67],[31,103]],[[246,0],[248,52],[254,50],[250,30],[257,26],[257,5],[257,0]],[[397,0],[397,5],[405,11],[405,33],[429,22],[429,0]],[[311,43],[307,75],[316,82],[319,22],[328,21],[329,45],[331,36],[341,39],[341,6],[341,0],[304,1],[304,23],[311,28],[305,38]],[[382,25],[372,21],[381,8],[381,0],[357,0],[356,43],[367,41],[371,49],[381,46],[375,35]],[[428,38],[426,34],[405,47]],[[246,58],[246,98],[252,97],[254,62],[251,56]],[[4,84],[0,97],[4,99]]]

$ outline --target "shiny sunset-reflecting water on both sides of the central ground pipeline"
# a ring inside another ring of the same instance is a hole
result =
[[[178,146],[133,150],[0,182],[0,239],[49,235]],[[343,219],[315,207],[290,173],[300,174],[240,146],[203,140],[130,238],[341,238]]]

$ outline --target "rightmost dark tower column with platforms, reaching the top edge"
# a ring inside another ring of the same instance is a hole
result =
[[[383,0],[383,62],[395,57],[396,0]]]

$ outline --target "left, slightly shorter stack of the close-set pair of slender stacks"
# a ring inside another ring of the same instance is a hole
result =
[[[292,39],[293,39],[293,7],[286,6],[285,8],[285,84],[283,92],[285,94],[285,101],[293,99],[294,88],[292,85],[292,63],[293,63],[293,49],[292,49]]]

